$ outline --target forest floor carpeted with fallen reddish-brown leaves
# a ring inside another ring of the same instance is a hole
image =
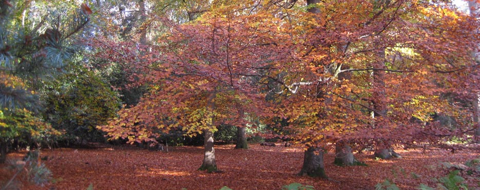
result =
[[[42,161],[53,173],[55,182],[44,187],[29,185],[18,177],[20,189],[281,189],[283,185],[301,183],[315,189],[375,189],[377,183],[390,179],[400,189],[416,189],[420,183],[436,186],[433,178],[449,173],[442,162],[464,164],[479,158],[472,149],[452,153],[442,149],[398,149],[402,158],[378,160],[372,153],[356,154],[368,166],[336,166],[334,153],[325,154],[325,170],[330,179],[297,176],[303,162],[300,147],[265,147],[251,144],[250,149],[234,145],[216,146],[217,165],[223,173],[208,174],[197,170],[203,148],[170,147],[169,151],[149,151],[134,146],[102,145],[97,148],[44,149]],[[12,153],[8,159],[22,159],[25,152]],[[450,169],[452,170],[452,169]],[[480,180],[466,174],[469,189],[480,189]],[[0,181],[13,175],[7,164],[0,165]],[[476,176],[478,177],[478,176]]]

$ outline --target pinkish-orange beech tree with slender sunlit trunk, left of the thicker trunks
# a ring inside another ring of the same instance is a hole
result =
[[[172,24],[174,30],[165,35],[162,46],[151,46],[141,62],[131,57],[136,52],[128,48],[124,51],[118,45],[105,47],[107,43],[101,43],[105,49],[114,47],[111,51],[143,70],[144,75],[135,77],[140,84],[149,84],[150,92],[100,128],[111,139],[126,138],[129,143],[156,142],[160,133],[155,131],[167,132],[178,126],[189,135],[204,134],[205,156],[200,169],[216,171],[213,132],[219,124],[245,126],[242,110],[231,111],[238,105],[248,107],[244,111],[252,115],[260,112],[262,94],[257,93],[249,75],[284,57],[280,53],[283,37],[271,31],[275,20],[264,26],[247,23],[266,18],[212,13],[195,24]]]

